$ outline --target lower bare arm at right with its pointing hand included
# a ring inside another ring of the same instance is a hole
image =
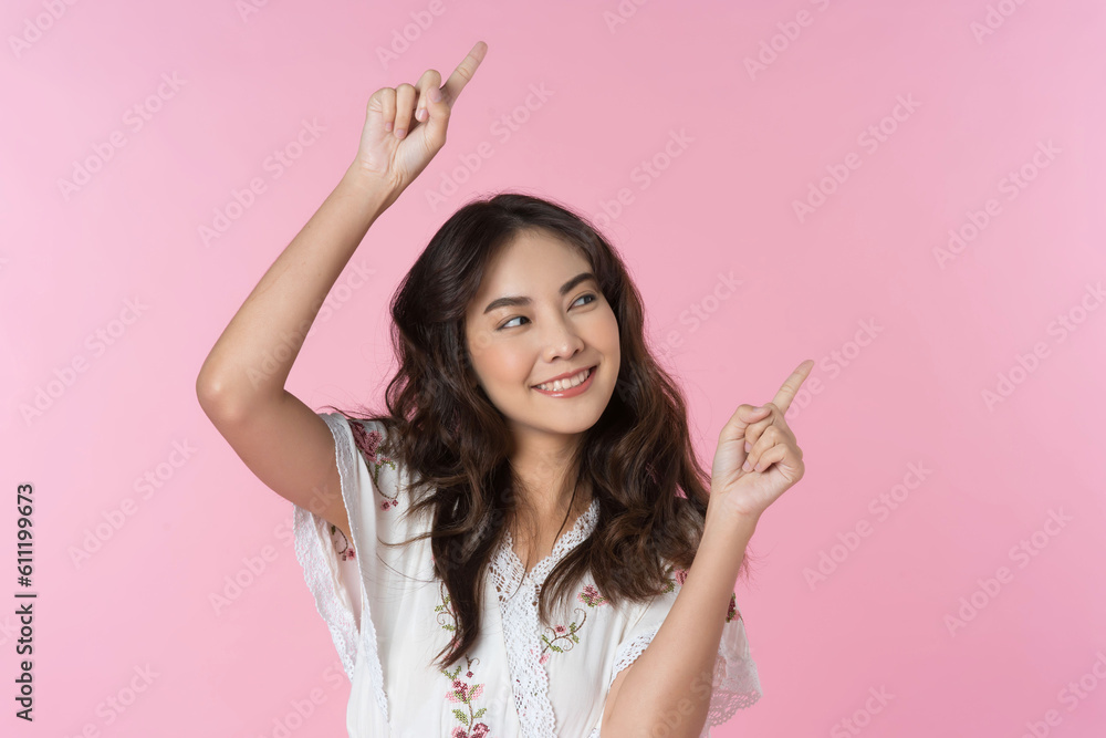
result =
[[[805,471],[784,414],[814,362],[806,360],[771,403],[741,405],[719,435],[702,539],[660,628],[612,688],[604,738],[697,738],[710,707],[714,664],[745,548],[764,510]],[[675,718],[675,719],[674,719]],[[674,725],[675,723],[675,725]]]

